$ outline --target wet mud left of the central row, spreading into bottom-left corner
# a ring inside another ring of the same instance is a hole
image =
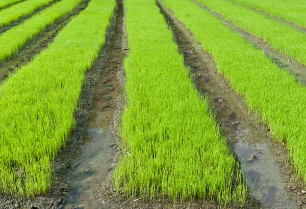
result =
[[[83,9],[88,2],[84,3]],[[55,172],[51,190],[33,199],[0,194],[0,208],[84,208],[81,206],[84,204],[86,208],[88,206],[101,208],[98,203],[91,200],[95,196],[95,187],[99,187],[99,178],[103,177],[96,171],[101,169],[107,172],[108,163],[112,162],[113,153],[116,152],[117,147],[112,138],[114,135],[110,133],[112,123],[109,121],[113,121],[112,113],[116,108],[116,97],[121,91],[117,86],[119,81],[117,81],[116,67],[123,62],[121,61],[123,58],[118,55],[121,46],[119,49],[118,47],[111,49],[110,40],[114,33],[114,21],[115,18],[108,28],[106,43],[97,61],[85,74],[86,83],[82,87],[82,95],[74,115],[75,131],[71,133],[66,146],[62,148],[62,152],[53,163]],[[111,54],[109,51],[112,51]],[[104,155],[106,151],[108,154]],[[92,177],[89,182],[88,177]],[[81,195],[78,196],[79,194]]]

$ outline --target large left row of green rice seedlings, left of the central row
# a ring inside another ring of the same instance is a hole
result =
[[[0,190],[46,193],[52,161],[74,129],[84,73],[105,43],[115,0],[91,0],[55,42],[0,88]]]

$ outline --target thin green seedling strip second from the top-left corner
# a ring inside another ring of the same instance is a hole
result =
[[[0,27],[9,25],[19,18],[33,13],[35,10],[52,3],[54,0],[28,0],[0,11]]]

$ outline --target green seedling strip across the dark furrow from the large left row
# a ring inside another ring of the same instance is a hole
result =
[[[0,35],[0,61],[12,57],[47,26],[70,13],[83,0],[62,0]]]

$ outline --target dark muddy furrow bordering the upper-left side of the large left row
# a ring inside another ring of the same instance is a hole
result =
[[[61,29],[63,29],[74,16],[86,9],[89,1],[90,0],[85,0],[81,2],[71,13],[46,27],[41,34],[25,44],[25,46],[10,59],[0,62],[0,85],[5,82],[10,74],[16,72],[22,65],[26,65],[35,55],[47,48],[47,46],[57,37]]]

